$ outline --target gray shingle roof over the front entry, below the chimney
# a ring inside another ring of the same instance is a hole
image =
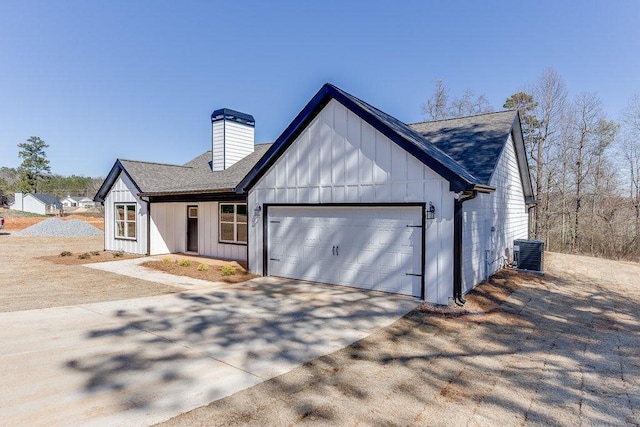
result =
[[[187,194],[233,191],[271,144],[259,144],[254,152],[224,171],[211,171],[211,151],[184,165],[120,159],[127,174],[144,194]]]

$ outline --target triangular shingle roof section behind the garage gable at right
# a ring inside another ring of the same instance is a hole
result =
[[[489,185],[515,118],[515,111],[501,111],[409,126]]]

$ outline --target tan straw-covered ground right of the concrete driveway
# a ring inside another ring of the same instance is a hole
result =
[[[164,425],[640,425],[640,265],[545,262],[496,312],[415,310]]]

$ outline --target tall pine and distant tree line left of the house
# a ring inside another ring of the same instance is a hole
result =
[[[45,151],[48,147],[49,145],[37,136],[18,144],[18,155],[22,159],[20,166],[0,167],[0,205],[11,202],[15,192],[46,193],[58,198],[93,198],[102,184],[102,178],[52,174]]]

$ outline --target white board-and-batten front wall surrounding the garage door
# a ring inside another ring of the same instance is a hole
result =
[[[257,205],[431,201],[436,219],[427,221],[425,232],[425,299],[446,304],[453,283],[453,200],[448,181],[331,100],[249,192],[249,268],[263,273]]]

